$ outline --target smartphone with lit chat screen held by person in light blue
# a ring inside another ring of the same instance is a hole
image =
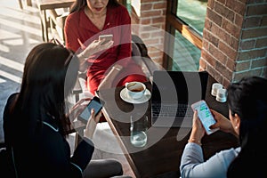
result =
[[[210,129],[210,125],[214,125],[216,123],[216,120],[214,119],[210,109],[208,108],[206,101],[201,100],[198,102],[195,102],[191,105],[191,108],[195,111],[198,110],[198,117],[201,121],[203,127],[205,128],[206,134],[213,134],[219,128]]]

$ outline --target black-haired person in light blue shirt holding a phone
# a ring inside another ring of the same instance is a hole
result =
[[[225,133],[239,138],[240,147],[221,150],[207,160],[203,157],[201,139],[204,127],[195,111],[190,139],[181,159],[181,177],[267,177],[266,141],[267,80],[263,77],[243,77],[228,89],[229,118],[211,110],[216,124]]]

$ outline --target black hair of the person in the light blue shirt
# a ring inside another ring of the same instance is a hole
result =
[[[240,117],[239,142],[241,151],[228,169],[228,177],[267,177],[264,164],[267,125],[267,80],[244,77],[228,88],[231,114]]]

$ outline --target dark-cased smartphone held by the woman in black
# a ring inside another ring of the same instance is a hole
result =
[[[103,105],[104,101],[102,101],[99,97],[94,96],[77,118],[86,124],[89,117],[91,116],[91,109],[94,109],[96,116],[101,111]]]

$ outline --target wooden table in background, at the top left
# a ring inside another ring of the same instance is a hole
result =
[[[57,8],[69,8],[74,2],[75,0],[36,0],[41,16],[42,36],[45,42],[49,41],[48,28],[50,27],[46,11]]]

